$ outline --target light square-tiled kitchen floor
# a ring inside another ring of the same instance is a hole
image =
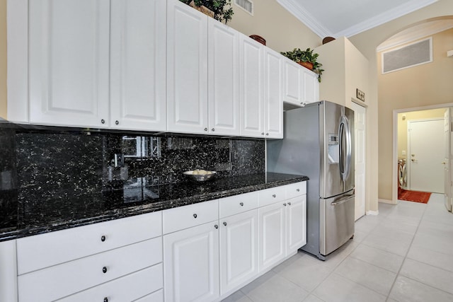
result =
[[[326,261],[298,252],[224,302],[453,301],[453,214],[428,204],[379,204]]]

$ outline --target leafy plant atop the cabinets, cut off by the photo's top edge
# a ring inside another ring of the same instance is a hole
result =
[[[205,13],[205,15],[224,22],[225,24],[231,20],[233,16],[233,8],[231,8],[231,0],[180,0],[181,2],[192,6],[193,8]]]

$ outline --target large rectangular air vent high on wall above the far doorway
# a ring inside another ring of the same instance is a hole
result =
[[[432,62],[432,37],[382,52],[382,74]]]

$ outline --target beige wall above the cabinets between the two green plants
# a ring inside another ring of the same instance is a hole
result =
[[[287,52],[296,47],[314,48],[322,44],[321,37],[289,13],[276,0],[253,0],[253,16],[234,4],[233,18],[229,25],[244,35],[260,35],[266,46],[277,52]],[[322,63],[321,57],[319,58]]]

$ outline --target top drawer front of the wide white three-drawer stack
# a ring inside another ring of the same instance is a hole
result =
[[[159,211],[20,238],[18,274],[161,236],[161,215]]]

